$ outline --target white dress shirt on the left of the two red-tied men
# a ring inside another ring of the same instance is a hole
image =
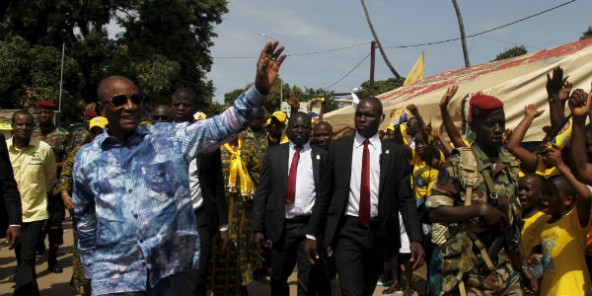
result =
[[[292,165],[292,158],[296,151],[296,145],[290,141],[290,151],[288,152],[288,174]],[[287,176],[286,176],[287,177]],[[284,198],[285,196],[282,196]],[[286,205],[286,219],[292,219],[296,216],[308,216],[312,214],[316,198],[314,174],[312,172],[312,150],[310,142],[302,145],[300,158],[298,159],[298,170],[296,172],[296,193],[295,201],[292,205]]]

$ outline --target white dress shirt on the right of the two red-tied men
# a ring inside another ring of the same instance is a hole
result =
[[[356,132],[352,153],[352,170],[349,181],[349,199],[345,214],[358,217],[360,210],[360,187],[362,185],[362,156],[364,154],[364,138]],[[370,152],[370,217],[378,216],[378,189],[380,186],[380,154],[382,143],[378,134],[368,138]]]

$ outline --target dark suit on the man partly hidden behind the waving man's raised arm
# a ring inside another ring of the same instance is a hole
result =
[[[224,193],[220,149],[198,154],[193,161],[197,161],[197,177],[203,198],[203,204],[195,210],[201,251],[194,295],[206,295],[212,238],[218,233],[221,225],[228,224],[228,206]],[[192,172],[189,173],[192,174]]]

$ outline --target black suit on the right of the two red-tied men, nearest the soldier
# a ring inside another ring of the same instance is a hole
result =
[[[352,173],[354,136],[331,141],[333,191],[325,243],[335,252],[342,295],[372,295],[385,257],[398,253],[401,212],[410,241],[421,241],[415,199],[409,184],[409,163],[401,146],[381,141],[378,216],[369,226],[346,216]]]

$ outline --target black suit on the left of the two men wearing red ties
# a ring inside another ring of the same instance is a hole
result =
[[[288,295],[287,279],[298,261],[298,295],[310,295],[318,287],[310,287],[311,265],[304,253],[306,235],[318,240],[328,207],[329,160],[327,152],[311,146],[312,168],[299,165],[298,171],[312,169],[315,202],[310,216],[286,219],[286,187],[288,179],[289,143],[267,149],[261,168],[261,178],[253,205],[253,228],[273,242],[272,295]],[[303,156],[301,156],[303,157]],[[298,189],[296,189],[298,190]],[[328,283],[328,280],[327,280]]]

